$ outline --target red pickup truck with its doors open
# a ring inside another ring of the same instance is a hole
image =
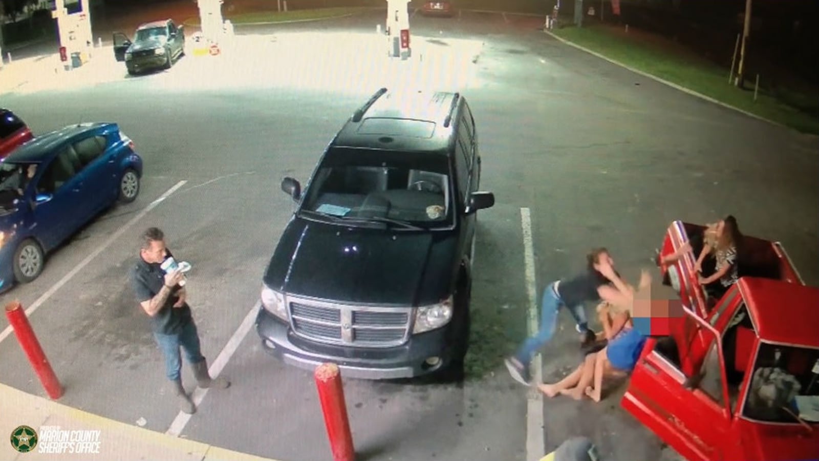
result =
[[[672,222],[661,255],[703,230]],[[693,253],[661,267],[685,315],[646,341],[622,407],[690,461],[819,459],[819,289],[746,236],[739,281],[706,300]]]

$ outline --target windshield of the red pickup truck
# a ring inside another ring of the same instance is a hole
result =
[[[819,349],[761,343],[743,416],[765,422],[819,422]]]

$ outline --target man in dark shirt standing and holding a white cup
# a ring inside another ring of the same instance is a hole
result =
[[[185,358],[193,367],[200,387],[225,389],[230,382],[224,377],[210,378],[207,361],[201,355],[197,326],[185,301],[187,294],[179,285],[183,274],[179,270],[165,274],[161,268],[162,262],[172,256],[165,248],[162,230],[156,227],[147,229],[142,235],[139,260],[131,269],[130,278],[138,303],[151,317],[156,344],[165,357],[165,373],[170,380],[170,388],[179,399],[180,409],[190,414],[195,413],[196,408],[182,386],[179,347],[185,349]]]

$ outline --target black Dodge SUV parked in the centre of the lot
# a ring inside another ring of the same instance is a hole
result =
[[[324,150],[265,271],[256,330],[346,377],[462,377],[481,157],[458,93],[379,89]],[[455,372],[455,374],[453,374]]]

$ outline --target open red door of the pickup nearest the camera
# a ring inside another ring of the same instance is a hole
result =
[[[622,407],[686,459],[722,460],[732,422],[722,341],[684,309],[671,336],[647,341]]]

